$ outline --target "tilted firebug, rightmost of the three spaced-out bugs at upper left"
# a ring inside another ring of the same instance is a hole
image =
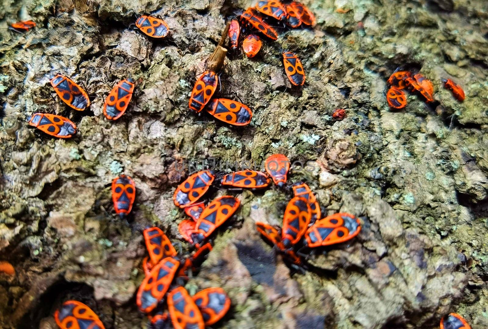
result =
[[[112,89],[105,99],[103,115],[109,120],[117,120],[127,110],[132,93],[134,92],[134,80],[123,79]]]

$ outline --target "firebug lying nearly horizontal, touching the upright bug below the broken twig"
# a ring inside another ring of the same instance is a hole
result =
[[[215,118],[234,126],[245,126],[251,122],[252,111],[243,103],[227,98],[216,98],[206,110]]]

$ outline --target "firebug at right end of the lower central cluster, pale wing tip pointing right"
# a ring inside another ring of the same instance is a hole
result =
[[[328,246],[352,239],[361,231],[359,219],[350,213],[335,213],[316,221],[305,232],[309,248]]]

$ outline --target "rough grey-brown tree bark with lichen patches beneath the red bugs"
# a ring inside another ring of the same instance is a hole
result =
[[[283,31],[257,58],[226,59],[219,95],[254,111],[241,129],[195,116],[187,103],[224,16],[251,1],[3,1],[0,28],[26,18],[38,25],[0,30],[0,260],[17,271],[0,276],[0,328],[56,328],[52,314],[67,298],[92,307],[107,329],[144,328],[134,297],[140,229],[181,238],[176,164],[261,163],[273,153],[315,161],[290,180],[307,179],[323,213],[353,213],[363,230],[310,255],[322,271],[291,273],[254,228],[281,224],[288,196],[241,193],[240,212],[186,286],[228,292],[233,307],[218,327],[433,329],[456,311],[488,328],[488,2],[304,3],[314,29]],[[166,20],[169,38],[128,29],[148,11]],[[286,79],[280,47],[301,58],[303,89]],[[404,110],[388,109],[386,79],[401,65],[433,81],[434,106],[410,95]],[[86,88],[86,113],[53,98],[53,70]],[[129,75],[132,104],[107,121],[103,97]],[[463,103],[444,77],[465,88]],[[331,117],[337,108],[346,109],[342,121]],[[68,116],[79,133],[60,140],[28,129],[34,112]],[[108,187],[122,172],[137,184],[129,225],[113,213]]]

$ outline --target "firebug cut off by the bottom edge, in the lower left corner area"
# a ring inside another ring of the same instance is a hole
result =
[[[105,329],[97,314],[76,300],[64,302],[54,313],[54,320],[61,329]]]

